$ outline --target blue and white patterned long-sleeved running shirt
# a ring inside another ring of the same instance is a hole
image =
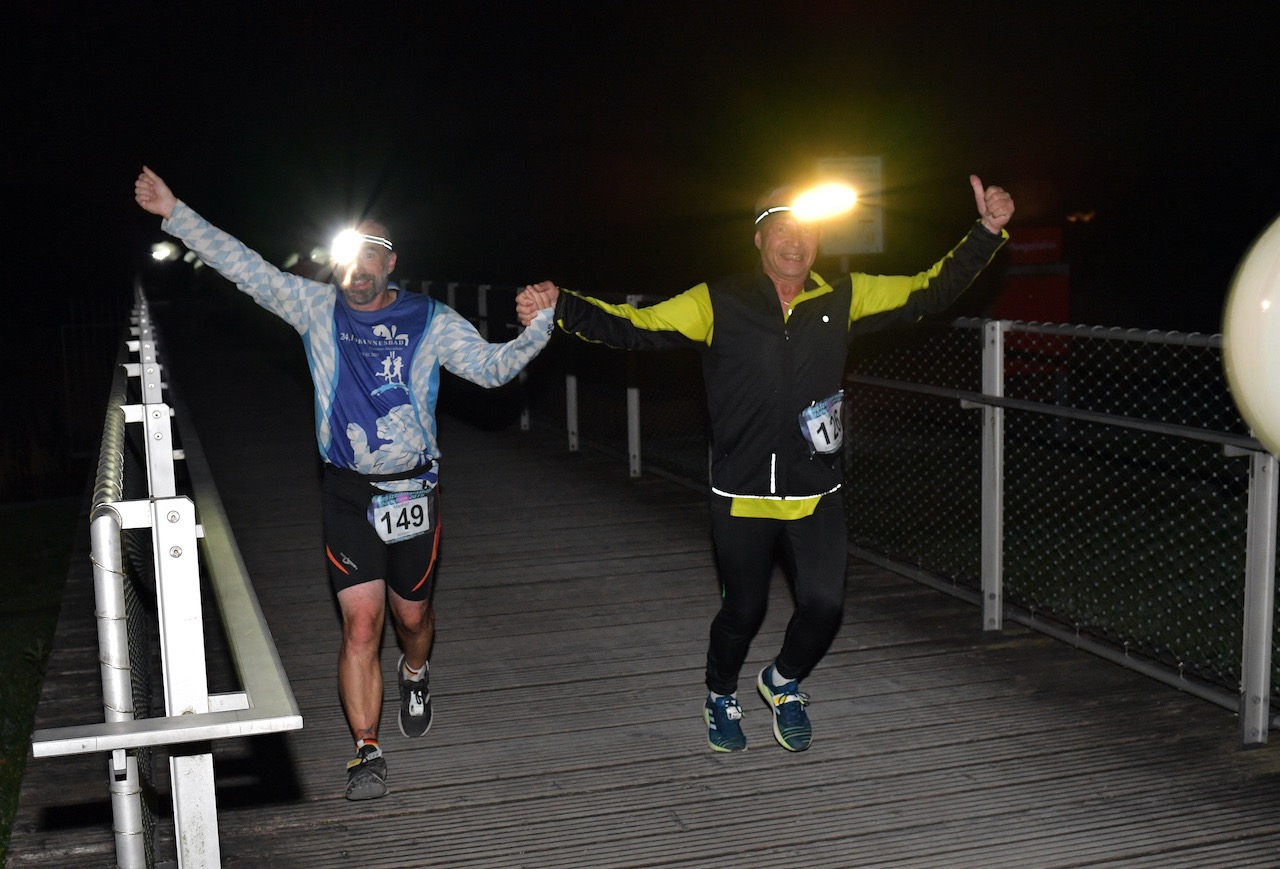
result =
[[[183,202],[161,228],[302,335],[324,461],[365,475],[422,470],[413,480],[380,484],[384,489],[435,484],[440,367],[500,387],[553,330],[545,310],[513,340],[490,343],[448,305],[404,291],[379,311],[356,311],[334,284],[276,269]]]

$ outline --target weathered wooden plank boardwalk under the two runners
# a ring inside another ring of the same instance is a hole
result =
[[[1280,746],[1240,751],[1217,706],[1019,626],[983,634],[973,607],[856,561],[805,683],[813,747],[780,749],[750,692],[790,614],[778,577],[744,673],[750,750],[713,754],[703,497],[458,419],[442,421],[435,724],[403,738],[389,685],[392,792],[347,802],[301,351],[215,326],[172,329],[170,380],[305,718],[218,746],[224,866],[1280,866]],[[38,726],[100,721],[91,618],[69,589]],[[385,672],[397,658],[388,632]],[[114,865],[106,759],[27,769],[8,865]]]

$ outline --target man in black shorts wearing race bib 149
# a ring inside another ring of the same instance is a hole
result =
[[[325,557],[342,613],[338,694],[356,740],[346,796],[380,797],[387,793],[387,761],[378,744],[379,651],[388,602],[403,653],[401,732],[421,736],[431,726],[440,369],[500,387],[547,346],[550,308],[513,340],[489,343],[447,305],[390,282],[394,244],[379,223],[356,228],[355,257],[335,264],[337,283],[321,283],[276,269],[196,214],[146,166],[134,198],[205,265],[302,335],[324,459]]]

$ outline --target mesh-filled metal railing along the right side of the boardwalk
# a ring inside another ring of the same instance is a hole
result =
[[[472,292],[452,284],[448,301],[479,317]],[[485,312],[509,319],[515,288],[484,292]],[[1235,710],[1242,744],[1266,742],[1280,726],[1277,465],[1231,401],[1221,348],[1221,335],[975,319],[859,339],[851,552],[970,600],[984,630],[1029,625]],[[590,443],[631,476],[707,489],[692,353],[562,338],[530,371],[534,421],[563,426],[571,450]]]

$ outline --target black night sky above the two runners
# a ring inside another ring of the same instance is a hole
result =
[[[406,278],[673,293],[751,262],[759,192],[879,155],[890,250],[855,267],[929,265],[974,171],[1024,225],[1097,211],[1068,239],[1078,319],[1216,331],[1280,214],[1275,6],[10,12],[5,237],[27,269],[5,298],[127,289],[160,238],[132,201],[143,163],[275,260],[372,207]]]

